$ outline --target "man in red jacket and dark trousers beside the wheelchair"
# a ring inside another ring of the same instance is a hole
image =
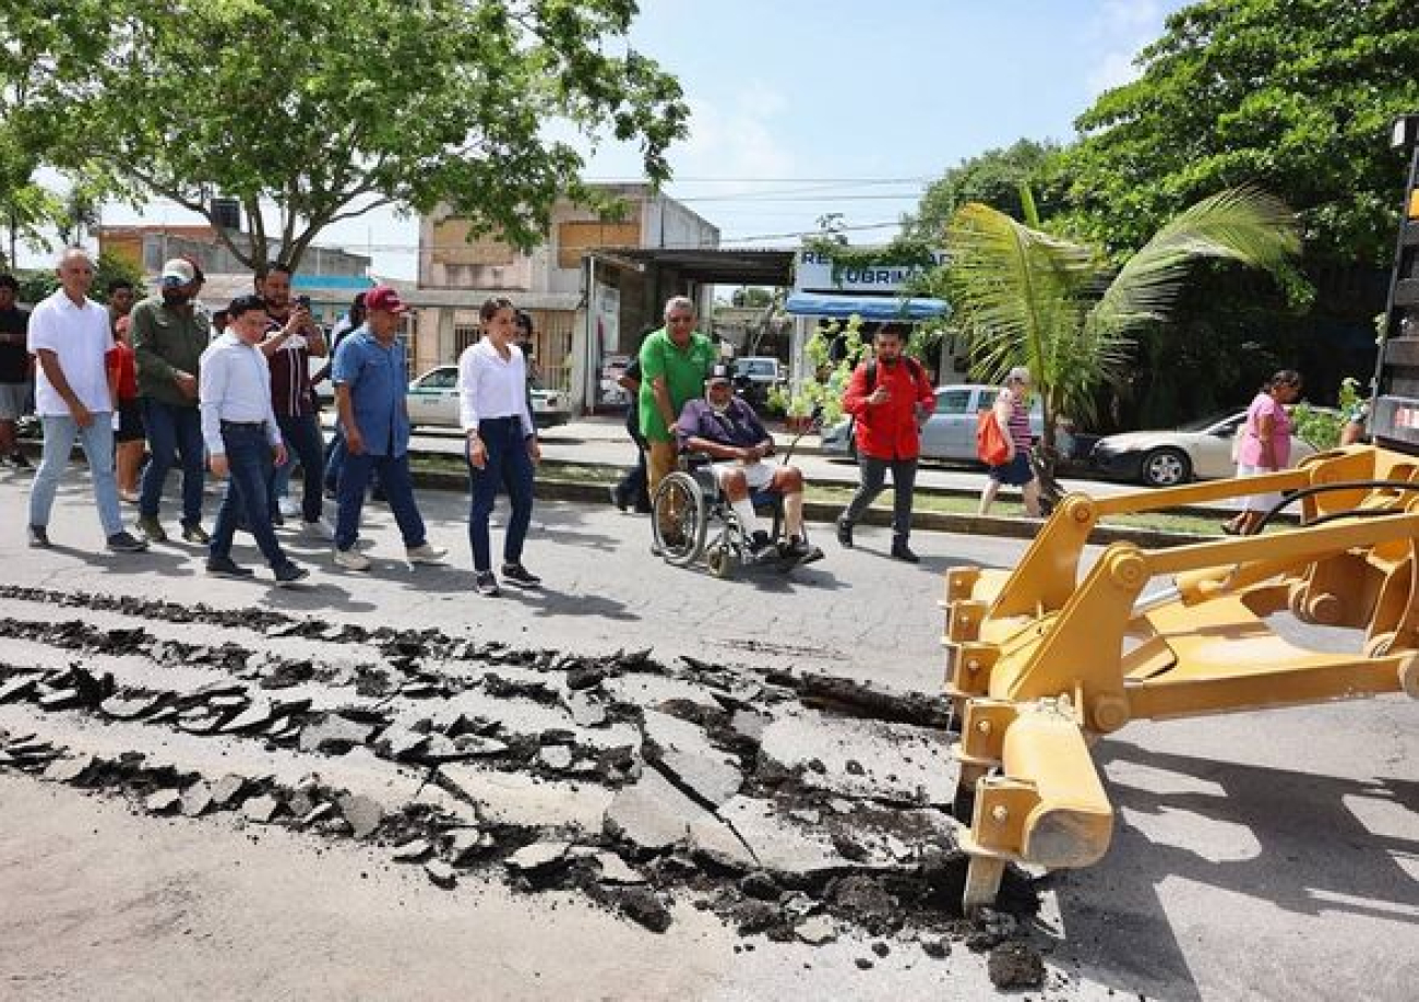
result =
[[[921,422],[931,414],[937,395],[921,363],[902,353],[901,328],[884,324],[873,341],[876,358],[860,363],[847,382],[843,410],[853,416],[861,483],[837,517],[837,541],[853,545],[853,525],[878,494],[891,470],[891,555],[917,563],[907,545],[911,536],[911,491],[921,454]]]

